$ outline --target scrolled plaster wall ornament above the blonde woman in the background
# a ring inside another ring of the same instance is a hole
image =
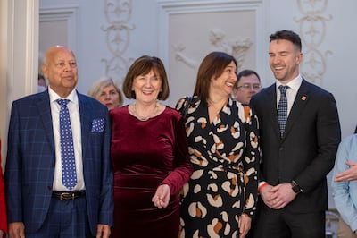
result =
[[[106,45],[112,54],[111,58],[103,58],[105,75],[114,81],[122,81],[129,68],[130,58],[124,56],[129,46],[129,31],[135,25],[129,24],[131,17],[131,0],[105,0],[104,14],[108,24],[102,26],[106,33]]]

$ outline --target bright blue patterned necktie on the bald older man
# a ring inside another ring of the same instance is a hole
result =
[[[70,113],[67,104],[69,99],[57,99],[60,110],[60,135],[61,135],[61,161],[62,183],[69,190],[77,184],[76,161],[74,159],[73,138],[70,121]]]

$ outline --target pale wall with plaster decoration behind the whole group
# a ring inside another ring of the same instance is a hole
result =
[[[227,50],[232,40],[247,38],[252,43],[242,56],[242,67],[255,69],[263,86],[269,86],[274,82],[268,64],[269,35],[283,29],[295,30],[305,40],[302,72],[335,95],[345,137],[357,124],[355,9],[355,0],[1,1],[3,158],[12,100],[36,92],[38,63],[34,59],[41,58],[49,46],[63,44],[74,50],[82,93],[104,74],[120,84],[135,58],[157,55],[170,76],[171,94],[166,104],[174,106],[180,97],[192,94],[203,56],[212,50]],[[311,26],[304,21],[306,17],[318,21]],[[210,32],[218,29],[224,32],[224,44],[213,46]],[[113,32],[119,32],[119,37]],[[330,207],[334,208],[332,200]]]

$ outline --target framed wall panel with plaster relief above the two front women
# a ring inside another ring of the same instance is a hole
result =
[[[170,83],[168,104],[192,95],[203,57],[223,51],[237,59],[238,70],[262,67],[262,0],[158,0],[159,56]],[[259,71],[259,70],[258,70]]]

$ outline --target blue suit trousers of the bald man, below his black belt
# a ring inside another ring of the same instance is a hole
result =
[[[52,198],[44,224],[36,233],[26,233],[26,238],[93,237],[87,219],[86,197],[75,200]]]

